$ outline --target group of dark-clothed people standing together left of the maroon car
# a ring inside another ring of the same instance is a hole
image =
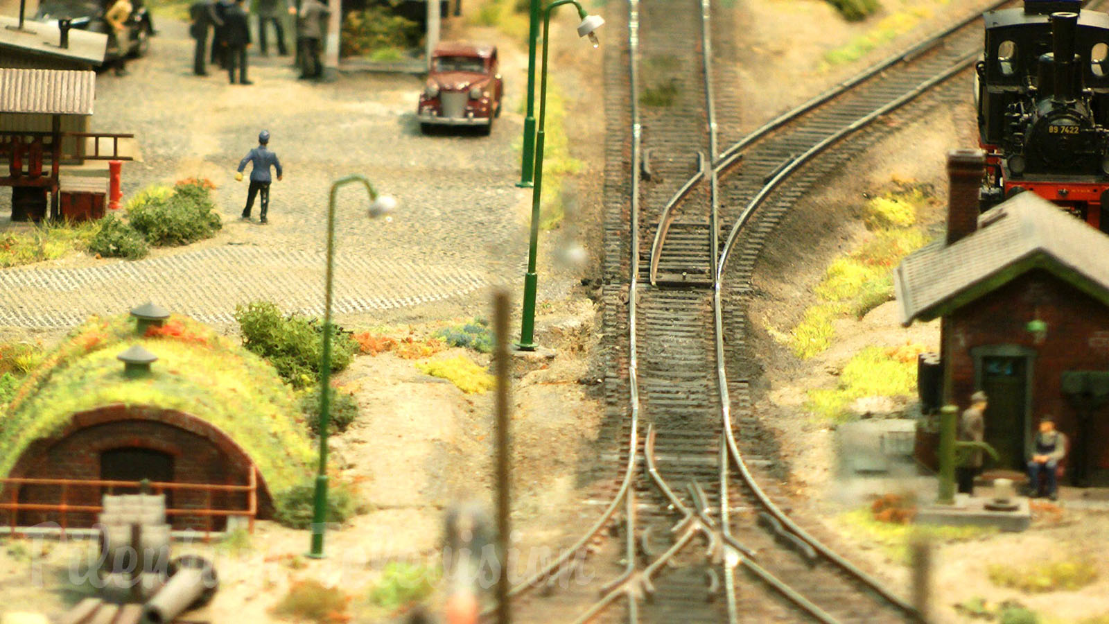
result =
[[[190,7],[189,33],[196,42],[193,50],[194,74],[207,76],[205,58],[210,58],[213,64],[227,71],[232,84],[235,84],[236,70],[238,84],[252,84],[246,78],[246,49],[252,41],[245,4],[246,0],[197,0]],[[262,56],[269,54],[266,37],[268,24],[273,24],[275,30],[277,53],[287,56],[278,0],[257,0],[255,12],[258,16],[258,48]],[[319,79],[323,77],[321,40],[326,32],[325,19],[330,10],[321,0],[296,0],[295,6],[288,6],[288,13],[297,18],[296,64],[301,68],[301,78]],[[210,30],[214,31],[211,52],[207,47]]]

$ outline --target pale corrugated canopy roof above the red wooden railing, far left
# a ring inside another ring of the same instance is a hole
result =
[[[0,68],[0,112],[92,114],[96,73]]]

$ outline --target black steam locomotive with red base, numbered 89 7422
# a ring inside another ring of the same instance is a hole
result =
[[[1109,232],[1109,14],[1081,0],[1026,0],[983,17],[983,210],[1032,191]]]

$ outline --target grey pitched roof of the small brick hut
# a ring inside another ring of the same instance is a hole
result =
[[[1044,269],[1109,305],[1109,236],[1035,193],[1020,193],[978,218],[954,244],[939,239],[894,270],[901,321],[930,321]]]

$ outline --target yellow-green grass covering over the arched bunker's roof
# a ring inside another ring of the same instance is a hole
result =
[[[151,373],[123,374],[115,356],[140,344],[157,355]],[[93,316],[48,353],[0,413],[0,477],[35,441],[62,433],[74,414],[112,404],[174,410],[226,434],[276,496],[309,474],[312,446],[292,391],[273,366],[211,328],[183,316],[144,335],[128,315]]]

